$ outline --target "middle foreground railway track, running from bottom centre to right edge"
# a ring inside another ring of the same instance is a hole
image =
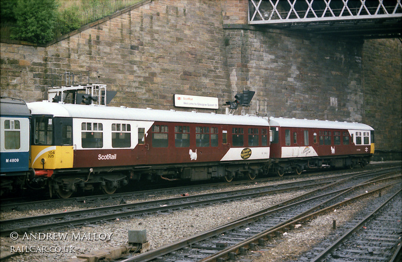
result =
[[[389,171],[383,172],[387,174],[382,176],[389,176]],[[361,175],[334,182],[296,199],[260,210],[207,232],[140,255],[125,257],[122,261],[149,261],[155,258],[158,261],[235,259],[237,254],[244,254],[256,245],[264,245],[267,240],[294,228],[297,223],[355,201],[357,198],[401,186],[400,176],[376,178],[376,180],[367,177],[359,178],[359,176]],[[397,180],[397,182],[386,182],[390,180]],[[345,198],[347,200],[344,200]]]

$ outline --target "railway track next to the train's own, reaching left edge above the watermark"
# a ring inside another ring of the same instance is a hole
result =
[[[372,171],[359,173],[358,177],[372,176]],[[350,174],[349,174],[350,177]],[[276,194],[284,191],[306,190],[309,187],[318,187],[323,184],[333,183],[334,177],[307,180],[303,182],[289,182],[280,185],[254,187],[252,189],[240,189],[218,193],[176,197],[162,200],[153,200],[131,204],[119,204],[112,206],[81,209],[77,211],[53,213],[39,216],[30,216],[2,220],[0,234],[7,235],[11,232],[24,232],[39,229],[49,229],[68,225],[82,225],[90,222],[111,220],[122,217],[149,214],[155,212],[170,212],[174,209],[189,208],[222,201],[232,201],[250,197],[258,197],[268,194]]]

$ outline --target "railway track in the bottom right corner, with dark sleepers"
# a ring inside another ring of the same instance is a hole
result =
[[[339,238],[320,243],[301,259],[312,262],[400,261],[402,190],[369,206],[364,215],[350,221],[346,225],[348,230]]]

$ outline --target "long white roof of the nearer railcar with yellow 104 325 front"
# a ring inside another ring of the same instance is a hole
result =
[[[227,115],[215,113],[157,110],[104,105],[52,103],[49,101],[27,103],[31,113],[59,117],[122,119],[141,121],[191,122],[214,124],[241,124],[268,126],[266,118],[255,115]]]

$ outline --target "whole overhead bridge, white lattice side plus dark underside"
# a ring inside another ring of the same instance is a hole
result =
[[[400,37],[402,0],[249,0],[249,25],[363,38]]]

